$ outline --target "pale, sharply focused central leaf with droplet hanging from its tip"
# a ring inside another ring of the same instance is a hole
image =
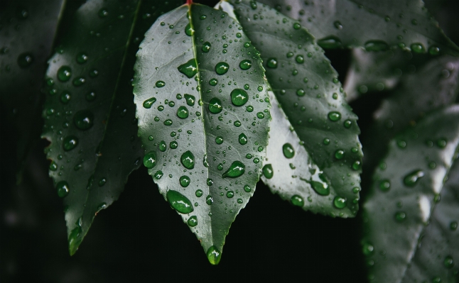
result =
[[[215,265],[266,155],[260,57],[227,13],[196,4],[158,18],[137,57],[144,165]]]

